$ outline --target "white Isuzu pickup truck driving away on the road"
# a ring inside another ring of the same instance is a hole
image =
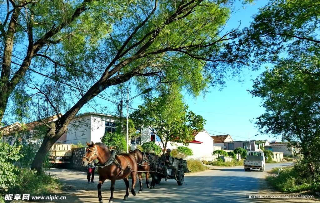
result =
[[[244,170],[248,171],[250,169],[260,169],[264,171],[266,167],[266,158],[262,151],[248,151],[247,158],[243,161]]]

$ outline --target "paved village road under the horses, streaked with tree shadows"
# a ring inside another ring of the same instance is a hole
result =
[[[275,167],[288,166],[291,163],[267,164],[266,170]],[[52,169],[60,180],[69,188],[67,199],[61,202],[98,202],[97,182],[87,184],[86,173],[67,169]],[[141,194],[135,197],[130,193],[128,200],[123,200],[125,185],[122,180],[116,182],[115,203],[159,203],[159,202],[252,202],[246,199],[247,193],[258,193],[259,181],[264,178],[266,172],[258,170],[244,171],[243,166],[218,167],[199,173],[186,174],[185,184],[178,186],[177,182],[169,179],[161,182],[155,189],[144,187]],[[95,178],[98,180],[98,175]],[[145,186],[145,184],[144,184]],[[130,183],[131,187],[131,183]],[[136,183],[136,192],[139,190],[139,182]],[[105,203],[110,196],[110,182],[106,181],[102,186],[102,197]],[[221,201],[222,200],[222,201]],[[54,202],[50,201],[50,202]],[[60,202],[60,201],[58,201]]]

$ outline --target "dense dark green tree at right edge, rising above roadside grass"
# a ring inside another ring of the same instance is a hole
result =
[[[312,61],[309,67],[316,64],[319,60]],[[314,174],[320,161],[316,148],[320,135],[320,99],[317,96],[320,77],[305,74],[296,64],[283,60],[272,70],[263,72],[253,87],[250,93],[262,98],[262,106],[266,109],[256,122],[260,131],[282,136],[290,146],[300,148],[311,174]]]

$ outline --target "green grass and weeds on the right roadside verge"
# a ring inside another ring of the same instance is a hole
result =
[[[274,168],[268,173],[272,175],[267,177],[267,181],[279,192],[316,191],[320,188],[319,183],[301,177],[294,167]]]

